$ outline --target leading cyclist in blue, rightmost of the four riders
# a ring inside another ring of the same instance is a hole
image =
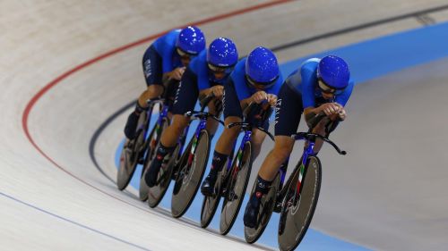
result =
[[[246,205],[244,223],[249,228],[256,226],[260,199],[267,193],[280,165],[288,164],[295,142],[290,136],[297,132],[301,114],[304,113],[310,128],[314,125],[309,124],[309,121],[316,114],[323,112],[329,116],[331,125],[319,123],[314,127],[314,133],[328,136],[339,120],[346,119],[344,106],[354,86],[348,64],[334,55],[308,59],[289,75],[285,83],[280,89],[276,107],[275,146],[258,172],[255,191]],[[322,140],[316,142],[314,154],[319,152],[322,144]]]

